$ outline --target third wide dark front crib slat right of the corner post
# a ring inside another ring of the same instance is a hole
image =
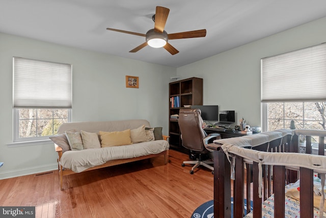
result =
[[[285,217],[285,166],[274,166],[273,178],[274,217]]]

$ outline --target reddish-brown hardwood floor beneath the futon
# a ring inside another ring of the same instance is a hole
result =
[[[213,199],[213,175],[182,167],[188,155],[163,157],[64,177],[58,171],[0,180],[0,206],[36,206],[36,217],[191,217]]]

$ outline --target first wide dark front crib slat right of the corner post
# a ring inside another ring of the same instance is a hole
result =
[[[234,210],[234,217],[235,218],[242,218],[243,217],[243,205],[244,205],[244,164],[243,158],[240,156],[236,157],[235,160],[235,180],[234,182],[234,189],[233,189],[233,210]]]

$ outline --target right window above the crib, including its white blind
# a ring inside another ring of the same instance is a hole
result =
[[[262,129],[325,130],[326,43],[261,59]]]

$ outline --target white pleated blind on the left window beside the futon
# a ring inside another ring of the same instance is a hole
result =
[[[72,66],[13,58],[15,108],[71,108]]]

